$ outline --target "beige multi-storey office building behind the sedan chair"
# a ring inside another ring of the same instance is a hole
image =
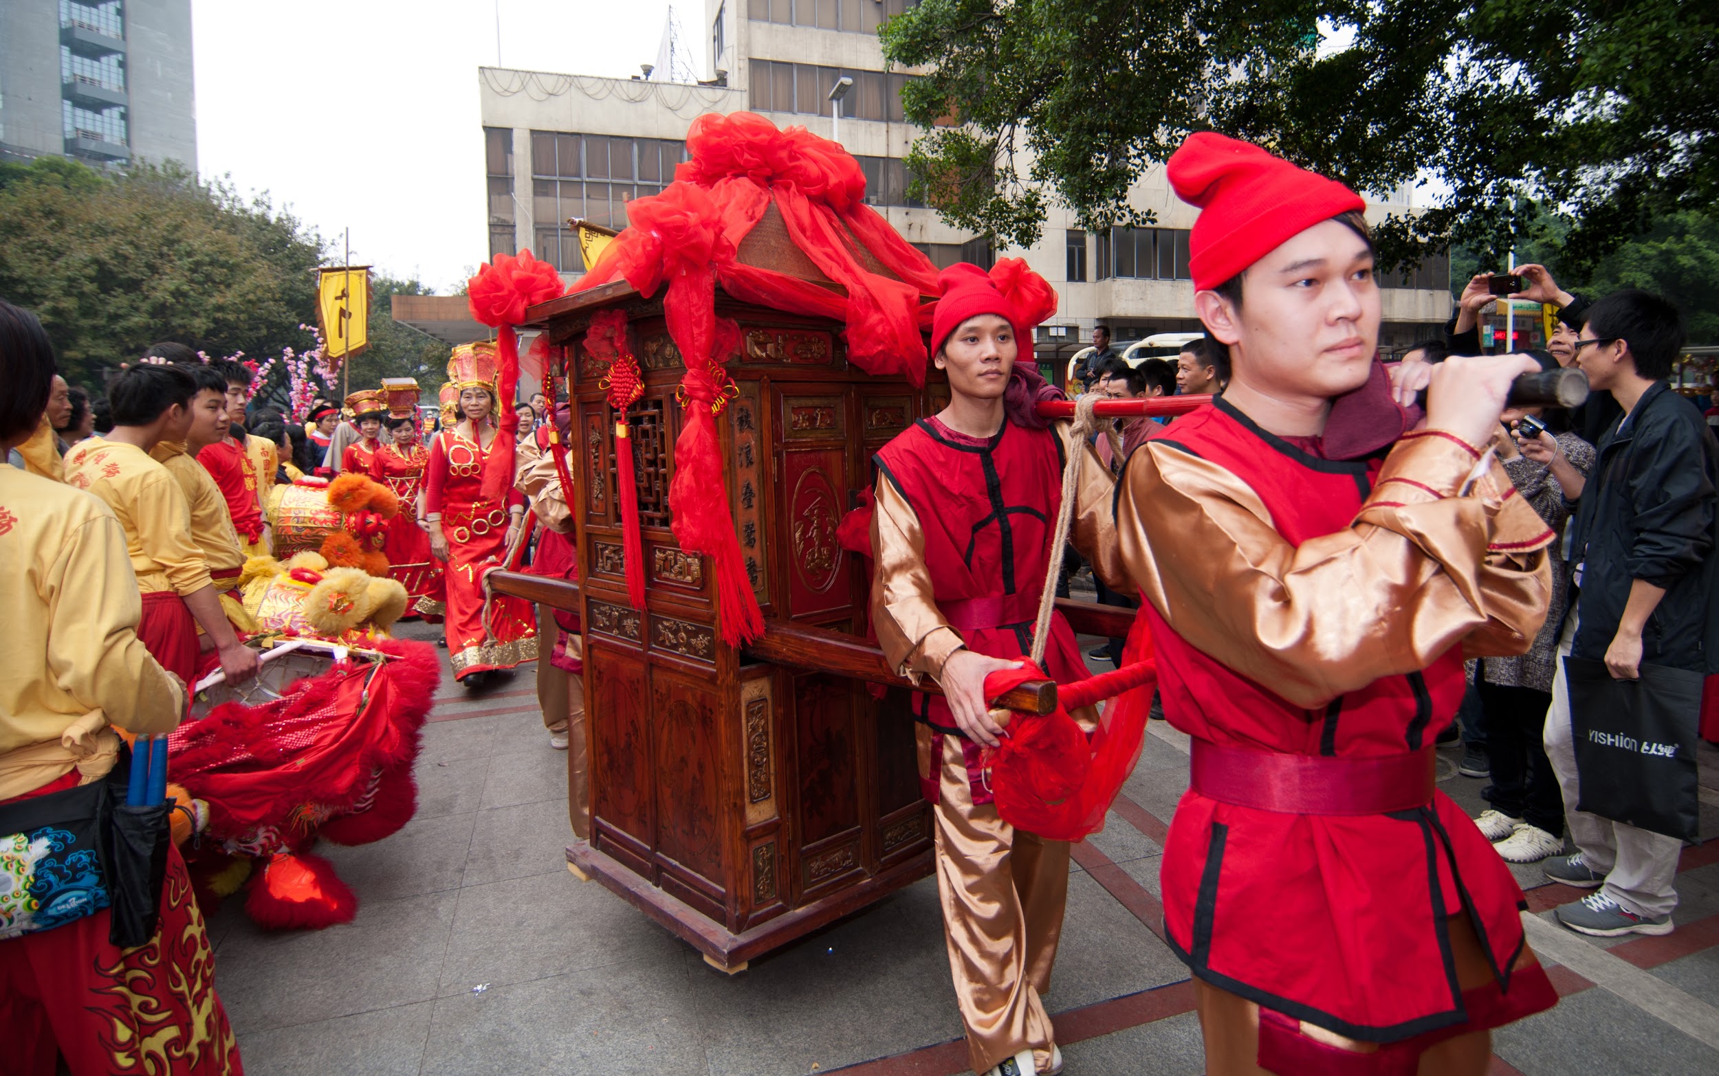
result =
[[[1157,227],[1088,235],[1052,206],[1043,234],[1026,251],[992,251],[908,196],[902,156],[916,129],[902,120],[901,89],[915,72],[884,62],[877,26],[913,3],[705,0],[701,31],[665,33],[658,62],[641,65],[633,79],[481,67],[490,253],[531,248],[576,277],[584,266],[569,218],[624,227],[627,201],[672,182],[694,117],[753,110],[784,127],[804,124],[839,138],[866,174],[868,201],[933,263],[1026,258],[1062,296],[1057,316],[1038,330],[1045,366],[1073,356],[1098,323],[1117,340],[1198,330],[1188,280],[1188,229],[1196,211],[1174,196],[1162,167],[1143,174],[1131,193],[1136,208],[1157,215]],[[676,62],[682,53],[670,36],[696,41],[701,55]],[[686,77],[694,62],[701,79]],[[837,119],[829,95],[842,77],[853,86]],[[1373,220],[1404,211],[1410,206],[1398,201],[1368,206]],[[1451,313],[1444,258],[1384,282],[1386,349],[1434,333]]]

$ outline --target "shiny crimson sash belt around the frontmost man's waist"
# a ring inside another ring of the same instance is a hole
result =
[[[1190,787],[1284,815],[1386,815],[1432,803],[1432,746],[1406,755],[1288,755],[1193,741]]]

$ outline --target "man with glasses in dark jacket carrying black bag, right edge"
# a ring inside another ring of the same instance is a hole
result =
[[[1683,347],[1678,309],[1643,290],[1621,290],[1588,308],[1575,352],[1595,392],[1621,409],[1599,442],[1588,478],[1551,437],[1523,442],[1576,502],[1569,560],[1576,617],[1559,657],[1604,660],[1614,679],[1643,665],[1719,672],[1716,493],[1719,445],[1702,413],[1666,383]],[[1578,700],[1580,705],[1580,700]],[[1569,669],[1559,662],[1545,753],[1564,792],[1576,854],[1547,861],[1556,882],[1599,892],[1557,911],[1581,933],[1671,933],[1673,887],[1683,842],[1576,810],[1581,801],[1571,732]]]

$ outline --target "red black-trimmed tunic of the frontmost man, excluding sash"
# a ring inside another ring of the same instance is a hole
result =
[[[1222,400],[1178,419],[1160,440],[1246,483],[1291,545],[1349,528],[1380,466],[1310,455]],[[1196,650],[1150,602],[1143,614],[1164,715],[1215,744],[1403,755],[1432,743],[1463,696],[1461,648],[1453,646],[1420,672],[1306,710]],[[1190,789],[1160,878],[1171,947],[1195,975],[1356,1040],[1396,1042],[1470,1019],[1449,963],[1449,916],[1471,913],[1506,990],[1525,944],[1521,889],[1442,792],[1418,810],[1331,816],[1234,806]]]

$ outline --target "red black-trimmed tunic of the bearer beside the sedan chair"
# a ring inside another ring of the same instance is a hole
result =
[[[966,648],[997,658],[1026,657],[1062,504],[1055,435],[1006,421],[995,437],[980,440],[932,418],[899,433],[873,462],[918,516],[937,610]],[[1059,684],[1088,676],[1062,614],[1050,619],[1043,669]],[[961,736],[942,696],[916,693],[915,713],[944,736]],[[973,803],[990,803],[990,789],[976,779],[980,748],[966,737],[963,748],[975,775]],[[937,751],[932,758],[939,758]],[[928,786],[935,803],[935,775]]]

